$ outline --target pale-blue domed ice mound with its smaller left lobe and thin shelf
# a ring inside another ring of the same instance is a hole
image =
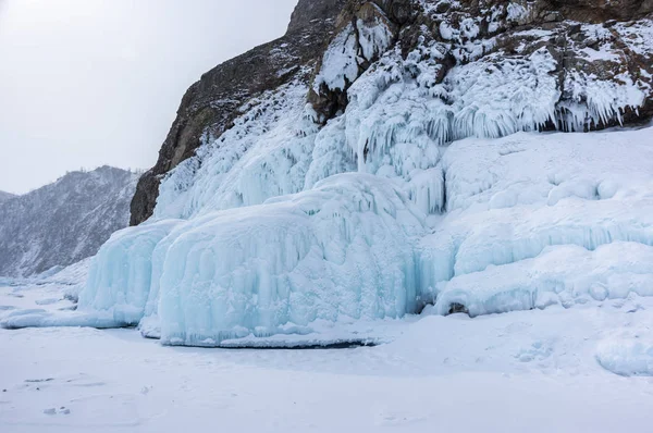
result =
[[[423,215],[391,181],[343,174],[260,206],[116,233],[79,308],[16,312],[4,327],[136,325],[164,344],[218,346],[310,324],[418,309],[415,238]]]

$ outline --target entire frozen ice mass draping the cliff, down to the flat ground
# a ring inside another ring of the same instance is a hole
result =
[[[427,304],[478,316],[653,296],[653,127],[568,133],[618,124],[642,83],[577,71],[560,102],[546,48],[485,54],[497,40],[467,17],[439,21],[447,44],[421,36],[403,53],[368,12],[335,35],[312,87],[252,99],[169,173],[155,216],[100,250],[78,312],[2,324],[138,323],[165,344],[219,346]],[[614,60],[596,47],[590,60]],[[309,88],[348,103],[322,125]]]

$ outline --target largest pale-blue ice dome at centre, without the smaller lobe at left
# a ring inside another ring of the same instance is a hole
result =
[[[417,305],[421,216],[390,182],[332,176],[177,231],[160,280],[165,344],[214,346],[317,320],[399,318]]]

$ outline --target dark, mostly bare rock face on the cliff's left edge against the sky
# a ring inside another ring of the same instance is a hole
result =
[[[138,182],[131,206],[132,225],[151,216],[162,176],[229,129],[244,102],[293,79],[308,82],[344,3],[299,1],[285,36],[214,67],[190,86],[157,164]]]

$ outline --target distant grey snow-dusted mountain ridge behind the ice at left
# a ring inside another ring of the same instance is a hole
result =
[[[0,193],[0,275],[28,276],[95,255],[127,225],[137,174],[71,172],[22,196]]]

